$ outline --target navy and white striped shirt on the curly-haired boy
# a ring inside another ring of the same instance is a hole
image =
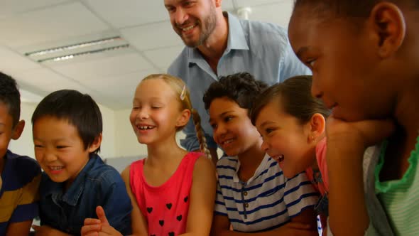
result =
[[[278,163],[268,155],[247,182],[240,181],[239,168],[236,156],[223,157],[217,163],[214,213],[228,216],[235,231],[276,229],[317,203],[318,193],[305,172],[285,178]]]

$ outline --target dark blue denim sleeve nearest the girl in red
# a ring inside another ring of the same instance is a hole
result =
[[[112,181],[103,181],[102,193],[104,200],[102,207],[107,215],[109,225],[121,232],[122,235],[131,235],[131,211],[132,205],[125,183],[115,170],[109,176]],[[109,185],[110,183],[110,185]]]

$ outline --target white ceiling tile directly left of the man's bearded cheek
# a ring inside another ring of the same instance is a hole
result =
[[[180,36],[173,31],[170,21],[151,23],[146,26],[134,28],[124,28],[121,30],[121,33],[126,41],[129,41],[138,50],[183,45]]]

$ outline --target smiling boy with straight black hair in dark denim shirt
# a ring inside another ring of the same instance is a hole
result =
[[[45,171],[36,235],[80,235],[85,218],[97,217],[97,205],[112,227],[129,235],[131,200],[118,171],[97,155],[102,114],[92,97],[53,92],[36,107],[32,124],[35,156]]]

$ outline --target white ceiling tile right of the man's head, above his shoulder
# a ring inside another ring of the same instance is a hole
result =
[[[293,1],[282,1],[276,4],[254,6],[249,19],[276,23],[288,28],[288,22],[293,11]]]

